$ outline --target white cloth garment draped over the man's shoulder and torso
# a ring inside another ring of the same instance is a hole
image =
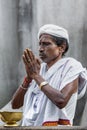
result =
[[[62,58],[49,70],[47,70],[46,63],[42,63],[40,74],[53,88],[59,91],[77,77],[80,77],[78,91],[82,90],[82,87],[86,88],[87,85],[86,69],[73,58]],[[24,99],[22,126],[41,126],[44,122],[58,121],[59,119],[69,120],[73,124],[78,95],[78,92],[74,93],[67,105],[63,109],[59,109],[40,91],[33,80]]]

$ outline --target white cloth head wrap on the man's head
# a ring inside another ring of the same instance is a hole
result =
[[[39,29],[38,39],[42,34],[50,34],[52,36],[65,38],[69,43],[68,31],[60,26],[53,25],[53,24],[46,24]]]

